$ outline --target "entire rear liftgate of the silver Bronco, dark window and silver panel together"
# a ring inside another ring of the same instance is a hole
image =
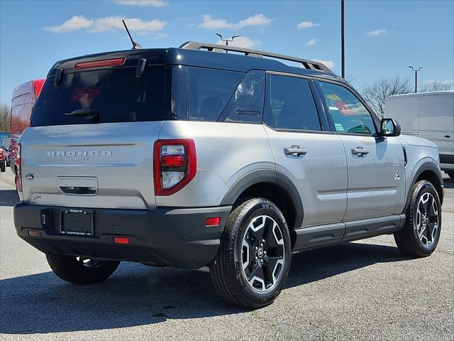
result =
[[[23,200],[155,207],[153,144],[164,119],[163,58],[164,50],[119,51],[52,67],[21,136]]]

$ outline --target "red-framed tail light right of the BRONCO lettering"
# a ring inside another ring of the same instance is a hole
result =
[[[196,175],[196,145],[192,139],[157,140],[153,151],[155,195],[172,195]]]

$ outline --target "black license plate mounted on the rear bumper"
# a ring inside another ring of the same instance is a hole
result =
[[[62,229],[64,234],[81,236],[93,235],[93,211],[72,208],[62,211]]]

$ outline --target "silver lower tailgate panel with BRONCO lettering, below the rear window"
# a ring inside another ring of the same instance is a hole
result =
[[[21,138],[23,198],[34,205],[155,207],[161,122],[38,126]]]

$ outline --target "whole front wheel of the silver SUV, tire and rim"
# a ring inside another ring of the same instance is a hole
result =
[[[421,180],[413,187],[404,227],[394,233],[394,240],[402,254],[426,257],[436,249],[440,234],[440,198],[430,182]]]

